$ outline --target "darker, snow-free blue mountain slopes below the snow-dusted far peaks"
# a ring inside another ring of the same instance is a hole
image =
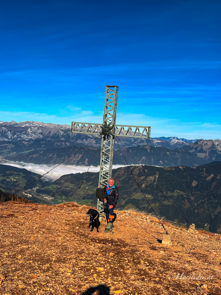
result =
[[[123,141],[122,141],[123,142]],[[97,139],[97,145],[99,139]],[[43,147],[35,149],[34,145]],[[0,142],[0,161],[19,161],[33,164],[59,164],[65,159],[67,165],[85,165],[89,166],[93,157],[93,166],[100,165],[100,148],[96,152],[95,147],[69,146],[68,143],[55,141],[36,141],[23,142]],[[25,148],[23,146],[25,145]],[[55,148],[55,145],[62,145],[62,148]],[[22,147],[21,147],[22,146]],[[52,147],[53,146],[53,147]],[[128,151],[119,144],[120,149],[116,149],[113,155],[114,165],[152,165],[160,167],[172,167],[178,165],[198,166],[210,163],[212,161],[221,161],[221,140],[200,140],[189,144],[183,148],[161,148],[150,145],[141,145],[136,147],[126,147]],[[32,149],[30,150],[30,147]],[[16,150],[16,151],[15,151]],[[96,154],[95,154],[96,152]],[[122,156],[122,153],[125,157]],[[75,154],[71,156],[72,154]],[[95,156],[94,156],[95,154]]]

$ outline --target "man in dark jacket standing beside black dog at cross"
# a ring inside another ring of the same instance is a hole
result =
[[[102,190],[103,200],[106,204],[106,218],[108,225],[105,228],[106,230],[110,230],[113,228],[113,218],[114,218],[114,208],[116,207],[118,198],[119,198],[119,190],[117,186],[114,185],[113,178],[110,178],[108,184]]]

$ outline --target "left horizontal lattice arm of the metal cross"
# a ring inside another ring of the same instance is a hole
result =
[[[100,134],[102,124],[95,123],[83,123],[83,122],[72,122],[71,132],[72,133],[84,133],[84,134]]]

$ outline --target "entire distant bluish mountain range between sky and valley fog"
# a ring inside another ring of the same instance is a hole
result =
[[[78,149],[83,148],[65,164],[90,165],[99,143],[95,135],[71,133],[71,126],[26,121],[0,123],[0,162],[22,161],[33,164],[58,164]],[[143,165],[171,167],[177,165],[197,166],[221,160],[221,140],[187,140],[177,137],[140,139],[120,137],[120,141],[131,152],[136,161]],[[136,165],[124,146],[119,146],[127,162]],[[113,164],[125,165],[119,147],[114,145]],[[100,149],[93,165],[100,164]]]

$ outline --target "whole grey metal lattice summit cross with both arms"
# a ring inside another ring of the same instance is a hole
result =
[[[101,126],[111,123],[111,126],[113,126],[113,135],[123,137],[150,138],[149,126],[121,126],[116,124],[117,93],[118,86],[106,86],[103,125],[95,123],[72,122],[71,132],[98,135],[102,131]],[[98,188],[103,188],[106,184],[108,184],[109,178],[111,178],[113,165],[113,144],[114,137],[112,135],[110,138],[105,139],[102,136]],[[104,214],[104,208],[103,201],[98,199],[97,210],[102,215]]]

